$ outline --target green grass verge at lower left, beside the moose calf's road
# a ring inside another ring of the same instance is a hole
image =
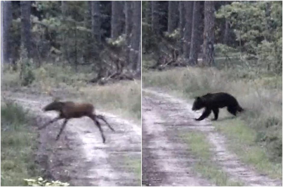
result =
[[[32,157],[36,133],[22,107],[12,102],[1,104],[1,186],[23,186],[23,179],[37,176]]]

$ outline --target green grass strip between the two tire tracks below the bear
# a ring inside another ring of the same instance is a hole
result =
[[[181,134],[186,141],[197,161],[194,163],[194,169],[210,180],[217,186],[242,186],[239,181],[229,179],[227,173],[221,170],[213,161],[210,145],[206,140],[206,136],[201,132],[189,132]]]

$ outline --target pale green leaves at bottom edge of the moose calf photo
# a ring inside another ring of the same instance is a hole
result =
[[[37,179],[24,179],[28,186],[69,186],[70,184],[67,182],[60,181],[51,181],[43,180],[42,177],[38,177]]]

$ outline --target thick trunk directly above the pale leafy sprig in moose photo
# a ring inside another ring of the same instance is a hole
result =
[[[117,38],[122,33],[122,5],[121,1],[112,1],[111,38]]]

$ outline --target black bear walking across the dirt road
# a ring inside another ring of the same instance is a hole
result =
[[[207,118],[211,110],[214,113],[214,120],[218,119],[219,108],[227,106],[229,113],[236,116],[237,112],[242,112],[244,109],[239,105],[235,97],[230,94],[219,92],[219,93],[208,93],[201,97],[196,97],[192,110],[199,110],[205,107],[204,113],[195,120],[201,121],[204,118]]]

